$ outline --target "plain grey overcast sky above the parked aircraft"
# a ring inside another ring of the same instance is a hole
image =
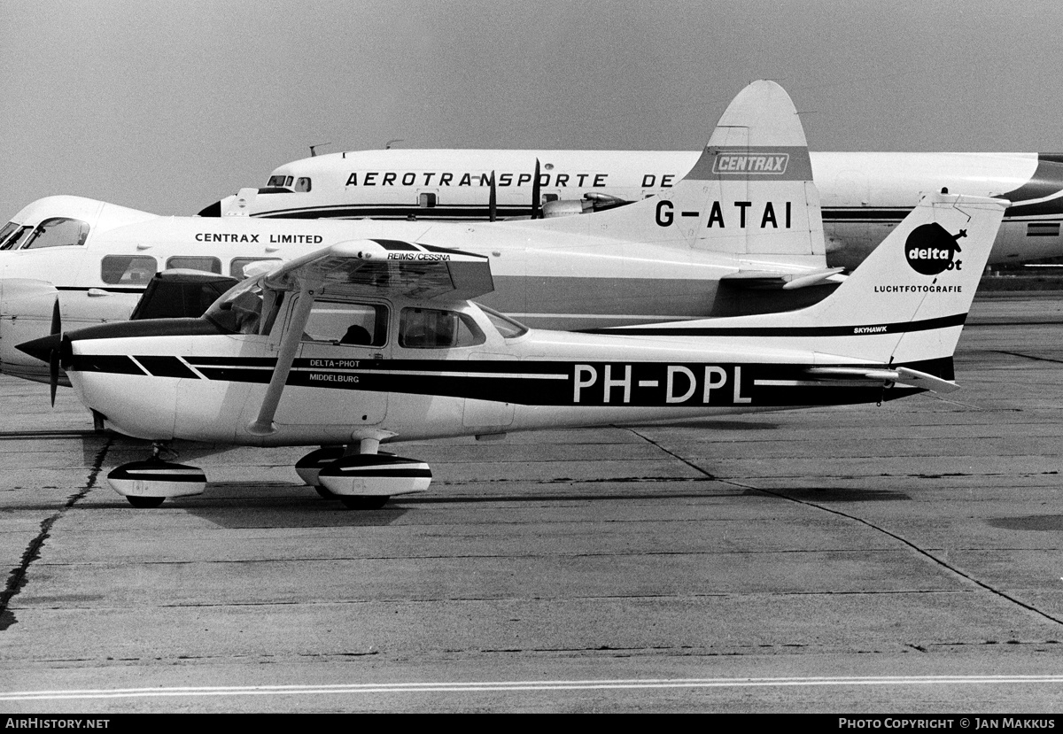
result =
[[[814,151],[1063,150],[1063,2],[0,0],[0,221],[190,215],[383,148],[696,150],[748,82]]]

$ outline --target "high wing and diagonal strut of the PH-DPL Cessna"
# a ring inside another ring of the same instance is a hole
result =
[[[273,433],[281,395],[299,351],[310,307],[318,298],[393,294],[431,301],[474,298],[494,290],[487,257],[398,240],[342,242],[290,260],[255,278],[264,292],[290,291],[296,307],[285,326],[258,416],[248,430]],[[269,301],[269,298],[266,298]]]

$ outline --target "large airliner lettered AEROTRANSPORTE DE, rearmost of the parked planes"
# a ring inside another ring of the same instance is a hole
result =
[[[330,153],[274,170],[252,217],[490,219],[588,212],[667,195],[697,151],[374,150]],[[921,191],[998,197],[990,263],[1063,256],[1063,153],[816,153],[827,264],[856,268]],[[538,174],[538,175],[537,175]],[[201,211],[218,216],[229,197]]]

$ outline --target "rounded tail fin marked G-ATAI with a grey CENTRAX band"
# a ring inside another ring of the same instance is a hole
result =
[[[747,259],[826,267],[820,195],[790,96],[754,82],[731,101],[690,172],[658,197],[545,229],[696,247]]]

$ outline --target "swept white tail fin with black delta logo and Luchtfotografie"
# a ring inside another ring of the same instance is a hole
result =
[[[841,286],[797,311],[617,327],[611,334],[772,338],[825,362],[949,360],[1008,202],[925,194]],[[950,363],[950,362],[949,362]]]

